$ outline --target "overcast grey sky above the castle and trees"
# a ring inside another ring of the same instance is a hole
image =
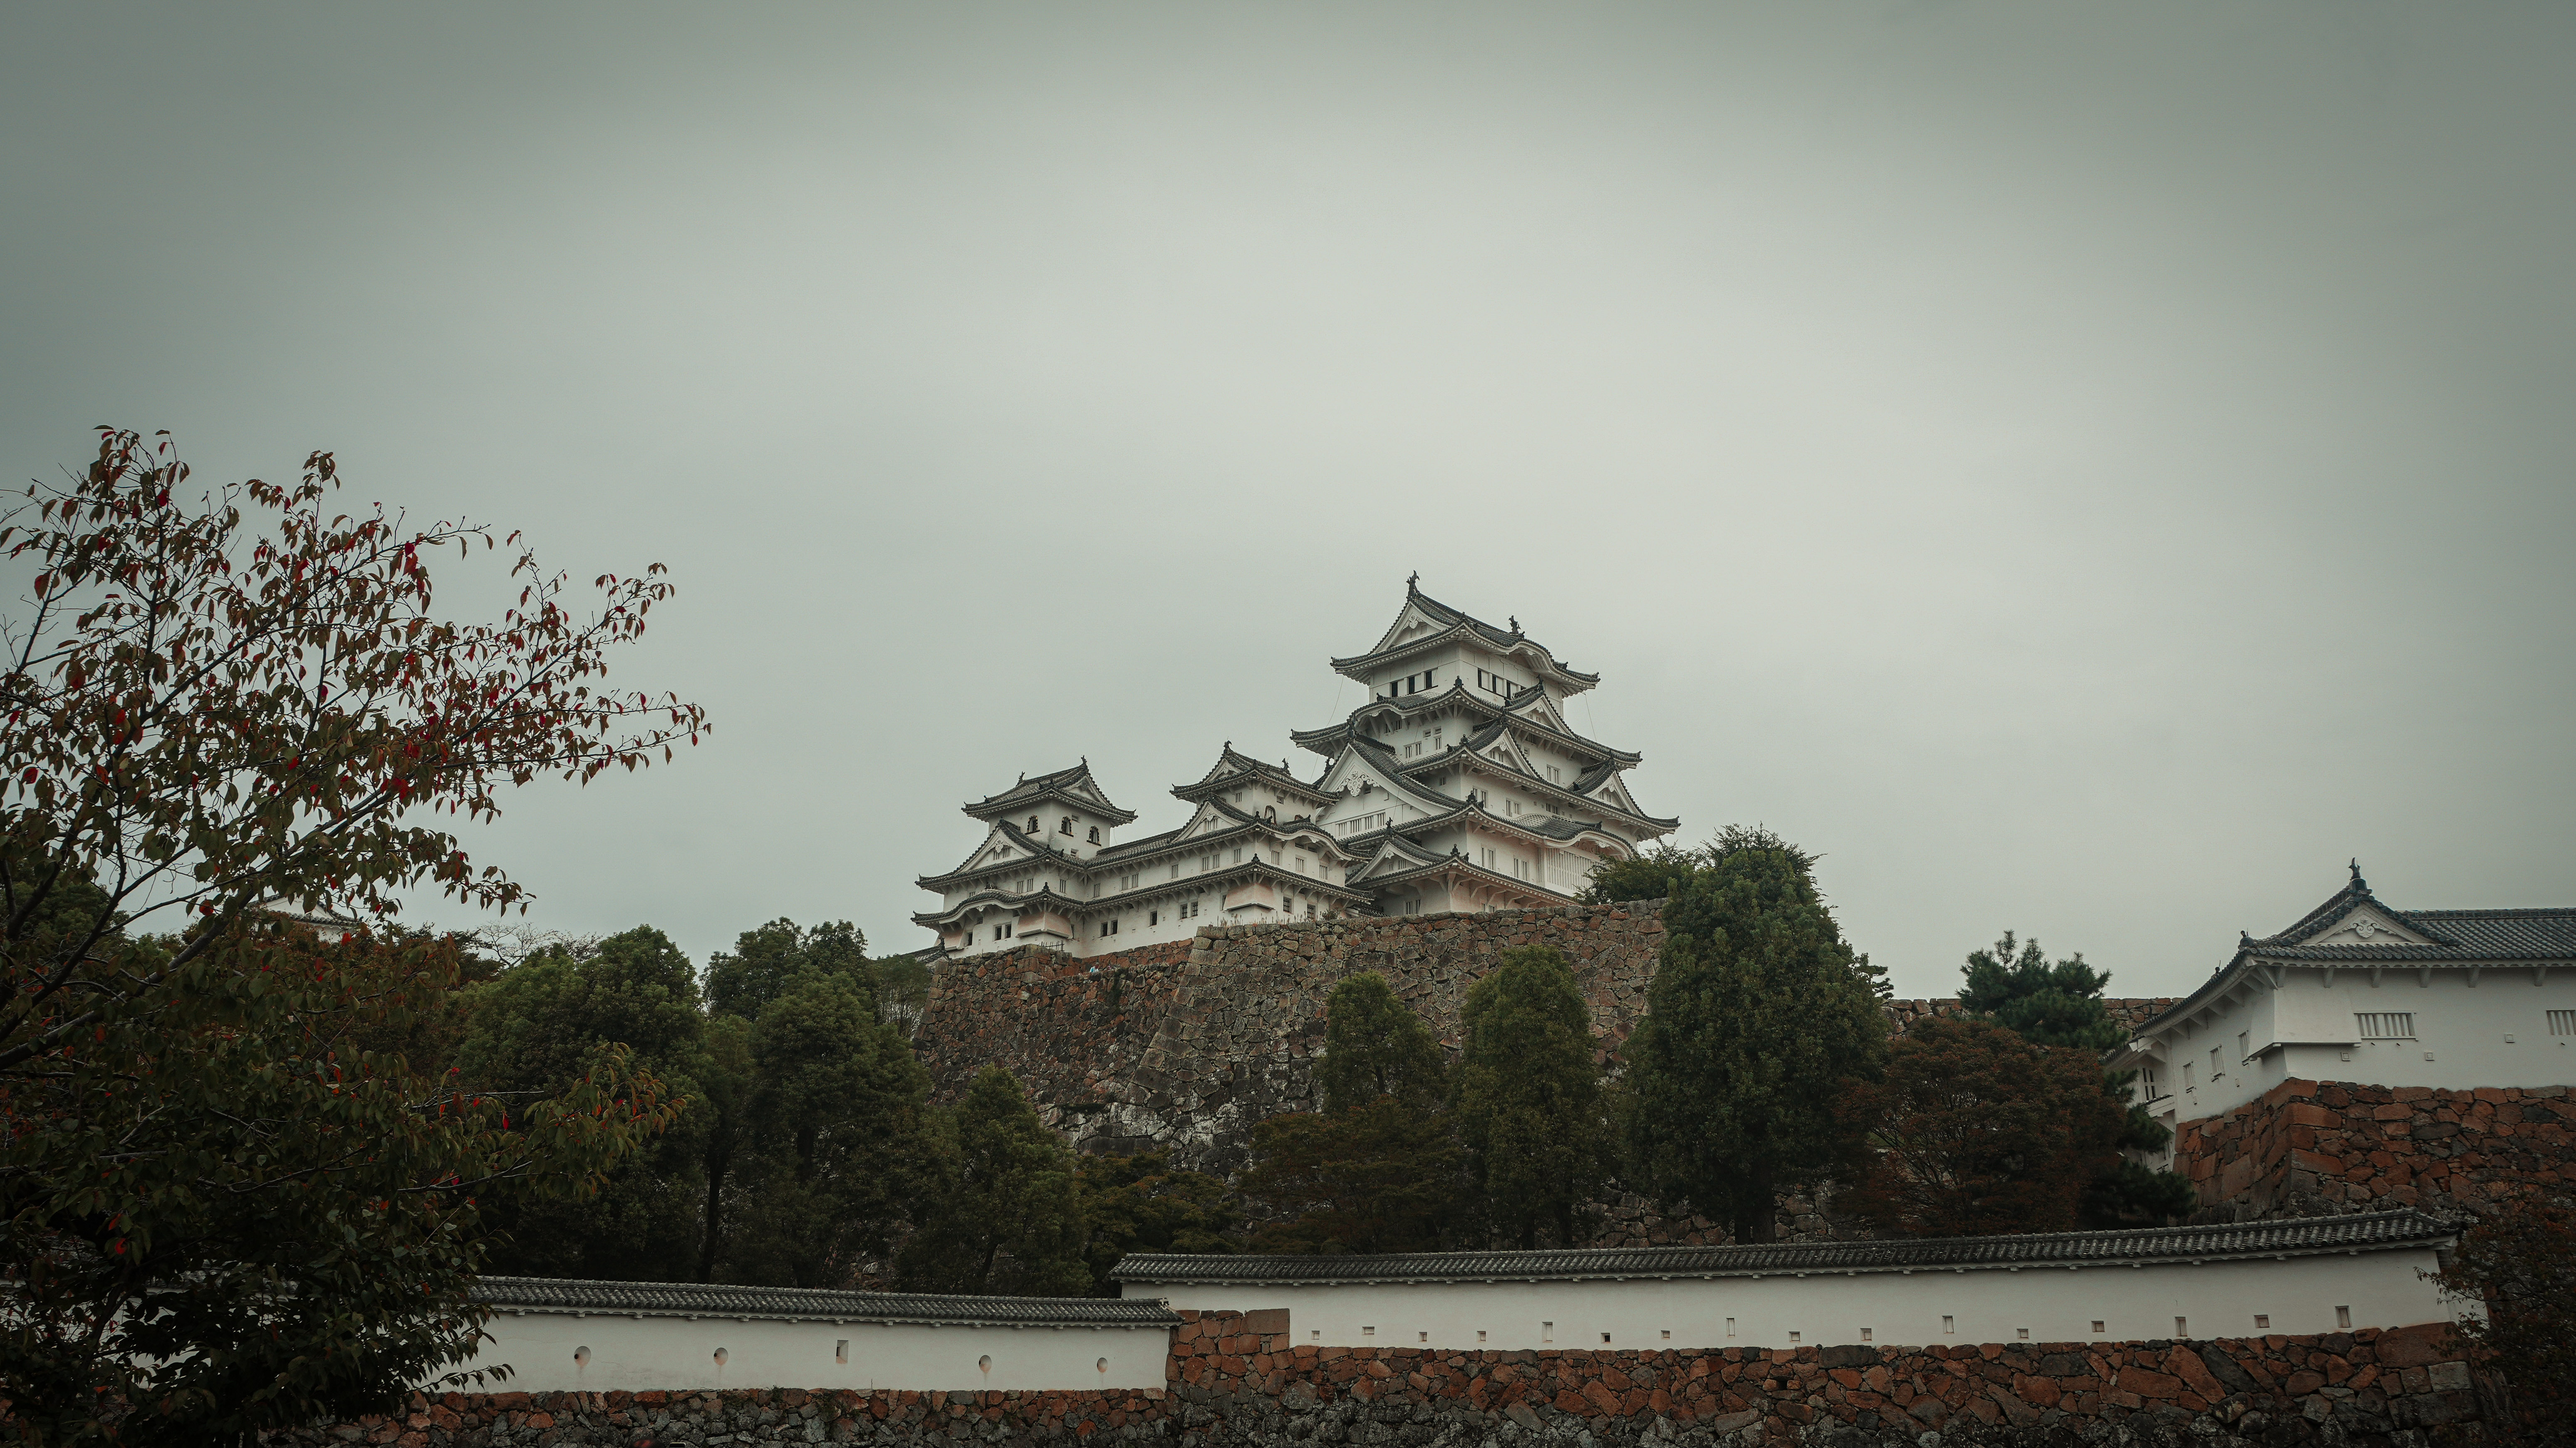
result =
[[[2576,902],[2568,75],[2555,0],[15,3],[0,461],[667,562],[714,739],[474,837],[551,928],[927,943],[961,801],[1177,824],[1422,569],[1904,995],[2179,992],[2349,855]]]

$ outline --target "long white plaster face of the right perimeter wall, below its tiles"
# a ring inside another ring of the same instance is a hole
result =
[[[2200,1268],[2022,1268],[1765,1275],[1625,1283],[1126,1283],[1175,1309],[1288,1309],[1296,1342],[1327,1348],[1790,1348],[1837,1342],[2032,1342],[2251,1337],[2450,1322],[2419,1273],[2434,1252],[2208,1262]],[[2254,1314],[2269,1317],[2257,1327]],[[1950,1324],[1942,1327],[1942,1317]],[[2174,1319],[2184,1327],[2177,1332]],[[1731,1319],[1731,1324],[1728,1324]],[[1551,1324],[1543,1327],[1543,1324]],[[2094,1332],[2094,1322],[2102,1329]],[[1376,1332],[1370,1332],[1376,1329]],[[1870,1337],[1862,1337],[1862,1329]],[[1479,1332],[1484,1337],[1479,1337]],[[1664,1337],[1664,1335],[1672,1337]],[[1795,1340],[1790,1335],[1798,1335]]]

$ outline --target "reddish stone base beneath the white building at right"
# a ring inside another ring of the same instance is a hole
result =
[[[2483,1211],[2527,1185],[2576,1185],[2568,1087],[2378,1087],[2287,1080],[2184,1121],[2174,1170],[2205,1216]]]

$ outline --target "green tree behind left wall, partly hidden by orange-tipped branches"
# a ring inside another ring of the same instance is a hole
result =
[[[562,1095],[611,1051],[654,1074],[677,1118],[621,1162],[598,1193],[528,1201],[489,1216],[489,1270],[536,1278],[690,1281],[698,1275],[708,1144],[719,1108],[698,979],[652,925],[608,935],[582,958],[538,951],[474,987],[456,1051],[466,1082],[502,1100]]]

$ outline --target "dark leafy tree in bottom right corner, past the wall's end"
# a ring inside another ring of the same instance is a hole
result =
[[[2460,1311],[2463,1355],[2504,1376],[2509,1443],[2576,1443],[2576,1201],[2527,1190],[2460,1237],[2442,1291]]]

